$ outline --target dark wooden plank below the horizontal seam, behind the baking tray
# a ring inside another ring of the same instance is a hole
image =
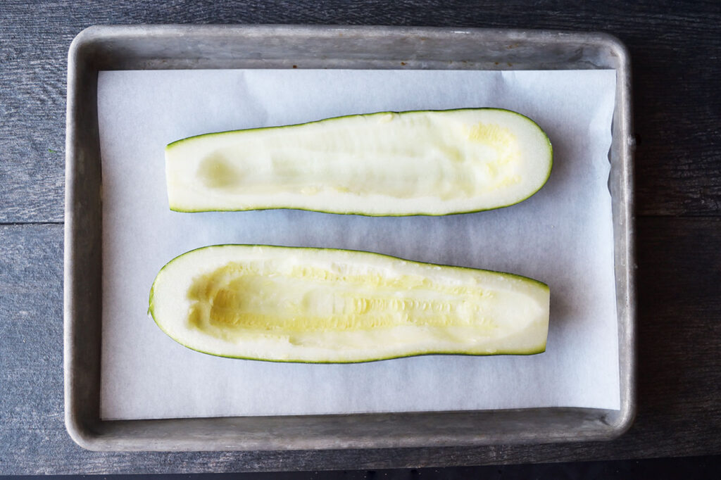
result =
[[[390,468],[721,453],[721,218],[638,221],[638,413],[611,442],[94,453],[63,425],[62,226],[0,226],[0,474]]]

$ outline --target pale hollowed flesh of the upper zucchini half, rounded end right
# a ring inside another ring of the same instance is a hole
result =
[[[209,133],[170,143],[165,159],[172,210],[445,215],[530,197],[552,148],[528,117],[481,108]]]

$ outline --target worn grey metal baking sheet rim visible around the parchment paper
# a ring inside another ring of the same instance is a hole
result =
[[[616,70],[611,144],[621,409],[520,409],[102,421],[99,417],[102,172],[97,72],[149,68]],[[632,134],[624,47],[601,34],[397,27],[90,27],[68,58],[66,425],[93,450],[278,450],[600,440],[633,402]]]

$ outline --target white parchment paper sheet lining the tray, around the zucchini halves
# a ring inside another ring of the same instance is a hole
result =
[[[607,187],[615,81],[614,71],[598,70],[100,72],[102,417],[618,409]],[[536,120],[554,146],[547,185],[510,208],[445,217],[168,208],[164,146],[177,139],[458,107],[503,107]],[[301,365],[188,350],[147,316],[149,290],[173,257],[223,243],[362,249],[537,278],[551,289],[547,352]]]

